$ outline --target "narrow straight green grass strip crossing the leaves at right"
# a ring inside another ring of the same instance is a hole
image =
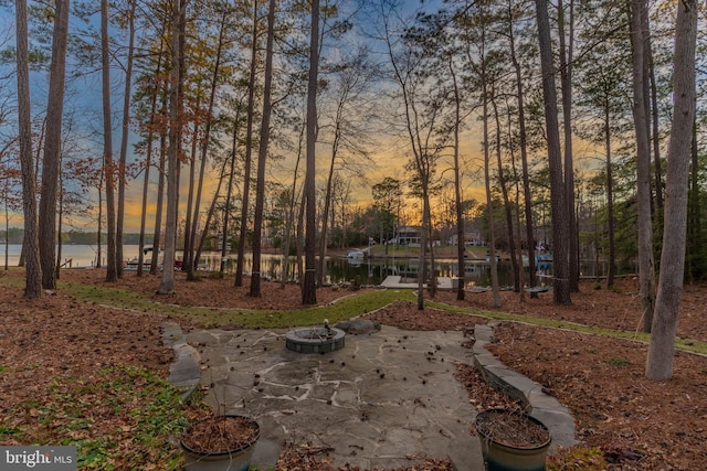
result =
[[[547,318],[535,318],[530,315],[511,314],[507,312],[473,311],[469,309],[460,308],[456,306],[445,304],[441,302],[434,302],[431,300],[425,301],[425,304],[431,308],[442,309],[449,312],[471,314],[479,318],[495,319],[500,321],[523,322],[526,324],[537,325],[542,328],[563,329],[563,330],[573,331],[573,332],[611,336],[615,339],[626,339],[626,340],[633,340],[633,341],[643,342],[643,343],[648,343],[651,341],[651,334],[645,332],[637,332],[637,331],[631,332],[631,331],[622,331],[622,330],[606,329],[606,328],[600,328],[600,327],[591,327],[585,324],[579,324],[576,322],[558,321],[556,319],[547,319]],[[698,340],[676,338],[675,347],[678,350],[690,352],[690,353],[707,355],[707,342],[703,342]]]

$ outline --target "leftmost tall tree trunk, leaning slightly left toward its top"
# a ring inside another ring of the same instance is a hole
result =
[[[30,64],[27,28],[27,0],[15,1],[18,127],[20,165],[22,168],[22,210],[24,214],[24,297],[42,296],[42,267],[36,221],[36,180],[32,156],[32,121],[30,117]]]

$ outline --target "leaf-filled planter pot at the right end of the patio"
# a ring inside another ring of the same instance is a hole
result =
[[[509,409],[488,409],[475,421],[488,471],[541,471],[550,431],[538,419]]]

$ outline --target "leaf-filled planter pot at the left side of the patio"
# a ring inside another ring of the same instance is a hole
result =
[[[187,471],[247,471],[261,429],[252,418],[236,415],[199,420],[182,436]]]

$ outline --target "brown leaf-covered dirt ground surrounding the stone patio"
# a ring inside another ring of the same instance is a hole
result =
[[[21,272],[10,271],[9,276]],[[103,277],[103,270],[62,272],[62,280],[95,285],[104,285]],[[181,306],[285,309],[302,303],[295,285],[282,289],[265,281],[263,296],[252,298],[247,279],[245,287],[234,288],[232,278],[198,282],[186,281],[182,274],[176,278],[176,293],[169,297],[154,295],[159,278],[149,275],[128,272],[109,286]],[[521,300],[519,293],[504,291],[499,310],[634,332],[641,322],[637,281],[623,279],[611,291],[597,288],[594,282],[582,283],[580,292],[572,295],[572,306],[562,307],[552,303],[551,292],[537,299],[526,293]],[[321,288],[317,301],[326,304],[348,295],[351,291]],[[489,292],[466,293],[465,298],[457,301],[451,292],[435,296],[440,302],[494,310]],[[707,287],[685,288],[679,336],[707,341],[706,301]],[[471,332],[474,324],[489,322],[429,308],[420,311],[410,302],[395,302],[368,315],[403,329]],[[21,408],[23,413],[18,414],[18,406],[30,399],[52,400],[46,392],[57,381],[89,376],[113,364],[140,365],[166,376],[171,361],[171,352],[161,347],[159,325],[165,318],[159,315],[84,304],[61,291],[28,301],[19,285],[0,279],[0,429],[36,420],[35,411]],[[673,379],[656,383],[644,377],[647,347],[643,343],[511,322],[497,323],[495,336],[492,349],[504,363],[540,383],[574,414],[580,443],[552,456],[555,469],[695,470],[707,462],[707,449],[701,447],[707,439],[706,357],[678,352]],[[472,367],[461,365],[458,371],[469,402],[478,409],[507,404]],[[116,426],[107,418],[94,425]],[[0,445],[15,442],[0,433]],[[303,449],[287,449],[281,457],[282,467],[288,469],[321,469],[317,463],[316,453]],[[431,460],[423,469],[450,468],[444,460]]]

